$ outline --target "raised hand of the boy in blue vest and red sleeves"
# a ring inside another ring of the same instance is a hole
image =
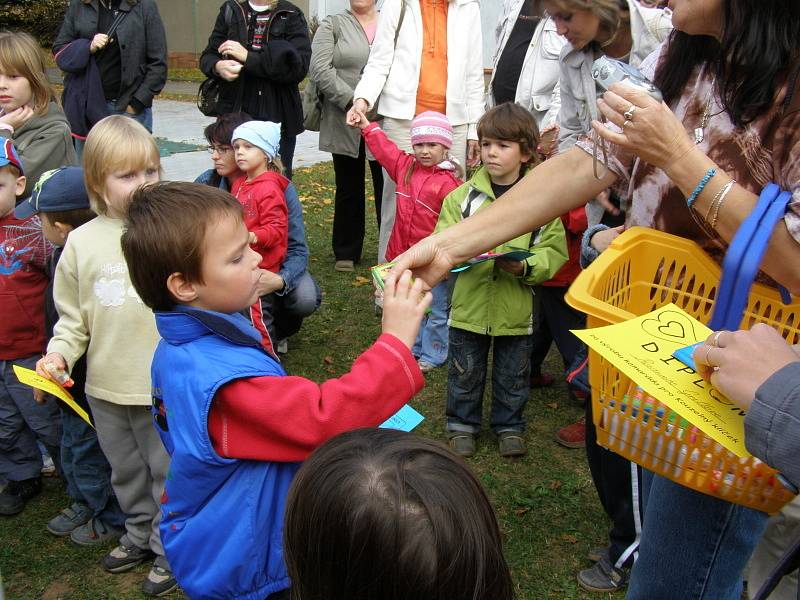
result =
[[[408,349],[414,347],[419,324],[430,306],[433,296],[423,293],[422,280],[411,283],[411,271],[403,271],[400,279],[389,273],[383,288],[383,333],[391,333]]]

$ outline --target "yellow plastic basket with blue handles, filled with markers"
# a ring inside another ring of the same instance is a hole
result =
[[[674,303],[707,323],[720,267],[694,242],[634,227],[583,271],[567,301],[587,314],[587,327],[620,323]],[[800,339],[800,304],[755,284],[742,328],[775,327]],[[740,459],[652,397],[611,363],[589,352],[592,411],[600,445],[694,490],[765,512],[794,498],[791,485],[756,458]]]

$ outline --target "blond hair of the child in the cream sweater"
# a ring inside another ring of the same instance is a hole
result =
[[[99,215],[106,214],[106,177],[115,171],[151,167],[161,170],[158,146],[140,123],[123,115],[98,122],[86,137],[83,174],[89,204]]]

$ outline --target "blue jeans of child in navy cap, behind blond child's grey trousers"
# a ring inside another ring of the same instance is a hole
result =
[[[61,411],[61,468],[67,494],[85,504],[93,516],[111,527],[125,526],[125,513],[111,488],[111,467],[97,433],[71,410]]]

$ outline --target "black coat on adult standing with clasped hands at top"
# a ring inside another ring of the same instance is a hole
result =
[[[222,42],[234,40],[248,47],[246,1],[226,0],[220,7],[208,46],[200,56],[200,69],[206,76],[218,77],[214,66],[222,60],[217,51]],[[286,134],[297,135],[303,132],[303,108],[297,84],[308,73],[311,60],[311,42],[303,12],[287,0],[279,0],[265,38],[260,51],[248,49],[239,77],[223,82],[219,113],[238,109],[255,119],[281,123]]]

